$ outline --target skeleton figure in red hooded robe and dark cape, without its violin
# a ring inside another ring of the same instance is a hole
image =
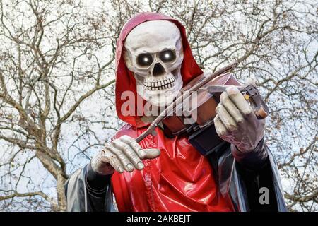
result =
[[[276,163],[264,141],[265,121],[235,87],[220,96],[214,118],[223,139],[203,156],[187,136],[168,138],[159,127],[137,143],[151,121],[124,115],[126,90],[165,107],[183,83],[201,71],[179,21],[141,13],[122,29],[116,49],[116,109],[126,125],[83,169],[66,182],[67,210],[112,211],[284,211]],[[251,81],[249,83],[252,83]],[[136,106],[134,106],[136,107]],[[259,189],[269,189],[268,206]]]

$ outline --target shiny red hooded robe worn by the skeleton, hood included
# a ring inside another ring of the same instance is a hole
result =
[[[202,73],[192,56],[184,27],[177,20],[160,13],[141,13],[131,18],[122,29],[116,52],[116,108],[118,117],[128,124],[115,138],[123,135],[136,138],[147,128],[140,117],[124,116],[120,109],[125,101],[121,100],[122,92],[131,90],[136,94],[136,81],[122,59],[124,40],[136,25],[148,20],[170,20],[179,28],[184,47],[181,70],[184,83]],[[112,175],[119,211],[231,211],[230,203],[217,195],[218,187],[206,157],[186,137],[167,138],[160,129],[155,131],[156,135],[147,136],[139,144],[142,148],[159,148],[160,156],[143,160],[145,167],[141,171]]]

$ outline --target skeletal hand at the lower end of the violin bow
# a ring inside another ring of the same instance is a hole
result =
[[[153,159],[160,155],[160,150],[142,149],[130,136],[122,136],[107,143],[100,153],[95,155],[90,164],[99,174],[112,174],[117,172],[132,172],[134,169],[143,169],[143,159]]]

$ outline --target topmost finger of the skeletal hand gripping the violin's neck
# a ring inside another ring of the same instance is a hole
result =
[[[228,93],[228,97],[232,100],[237,109],[240,110],[243,116],[246,117],[253,112],[252,107],[249,106],[249,103],[245,100],[237,87],[230,86],[229,88],[226,88],[226,93]]]

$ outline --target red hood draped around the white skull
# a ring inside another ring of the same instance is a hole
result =
[[[170,18],[169,16],[165,16],[161,13],[140,13],[130,20],[128,20],[124,27],[122,28],[122,31],[120,32],[119,38],[117,40],[117,48],[116,48],[116,88],[115,88],[115,95],[116,95],[116,111],[119,119],[122,119],[123,121],[136,126],[145,126],[146,124],[141,121],[141,116],[124,116],[121,112],[121,107],[126,100],[121,100],[122,93],[126,90],[131,90],[134,92],[134,96],[136,97],[136,103],[137,103],[137,97],[141,98],[136,93],[136,80],[134,78],[133,73],[129,71],[126,68],[126,65],[124,64],[124,57],[123,57],[123,46],[124,41],[137,25],[149,21],[149,20],[169,20],[172,23],[175,23],[177,25],[177,28],[179,28],[181,37],[182,37],[182,44],[184,49],[184,59],[182,61],[181,66],[181,74],[184,84],[188,83],[192,80],[192,78],[195,78],[196,76],[199,76],[201,73],[201,69],[199,68],[198,64],[196,64],[196,61],[194,60],[194,57],[192,55],[192,51],[189,46],[189,42],[187,40],[186,31],[184,29],[184,26],[179,23],[178,20],[175,20],[174,18]],[[142,101],[142,100],[141,100]],[[134,109],[134,112],[136,112],[136,106]]]

